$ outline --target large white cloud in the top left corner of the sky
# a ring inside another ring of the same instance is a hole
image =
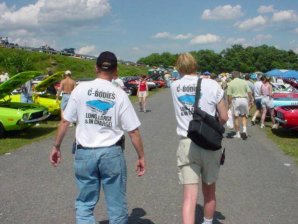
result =
[[[61,26],[96,20],[110,11],[108,0],[38,0],[19,9],[0,4],[0,28],[46,29],[49,25]]]

